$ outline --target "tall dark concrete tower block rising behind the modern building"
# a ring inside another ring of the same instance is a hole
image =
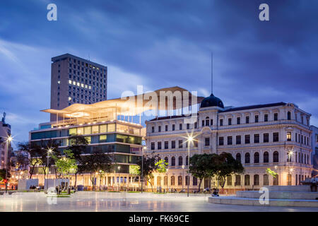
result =
[[[107,100],[107,66],[63,54],[52,58],[51,109]],[[51,114],[51,121],[56,116]]]

